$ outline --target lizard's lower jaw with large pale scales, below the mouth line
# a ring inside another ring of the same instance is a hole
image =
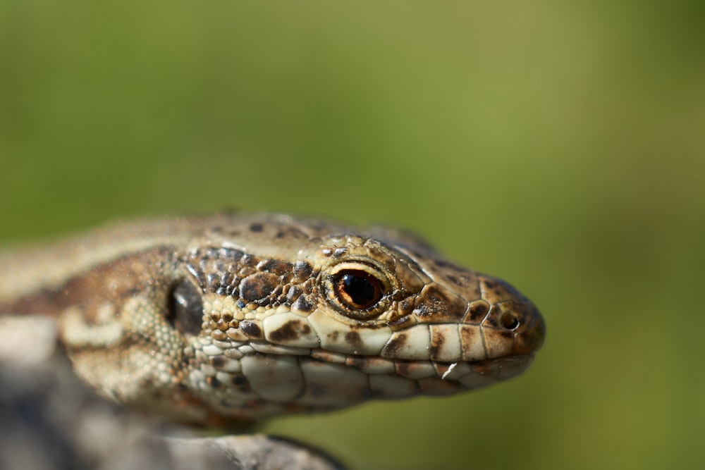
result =
[[[254,347],[252,347],[254,346]],[[283,413],[326,412],[367,400],[398,400],[419,395],[443,396],[477,390],[519,375],[533,353],[474,361],[391,359],[345,354],[321,348],[305,350],[251,343],[216,380],[206,371],[190,374],[196,402],[208,403],[214,416],[252,421]]]

